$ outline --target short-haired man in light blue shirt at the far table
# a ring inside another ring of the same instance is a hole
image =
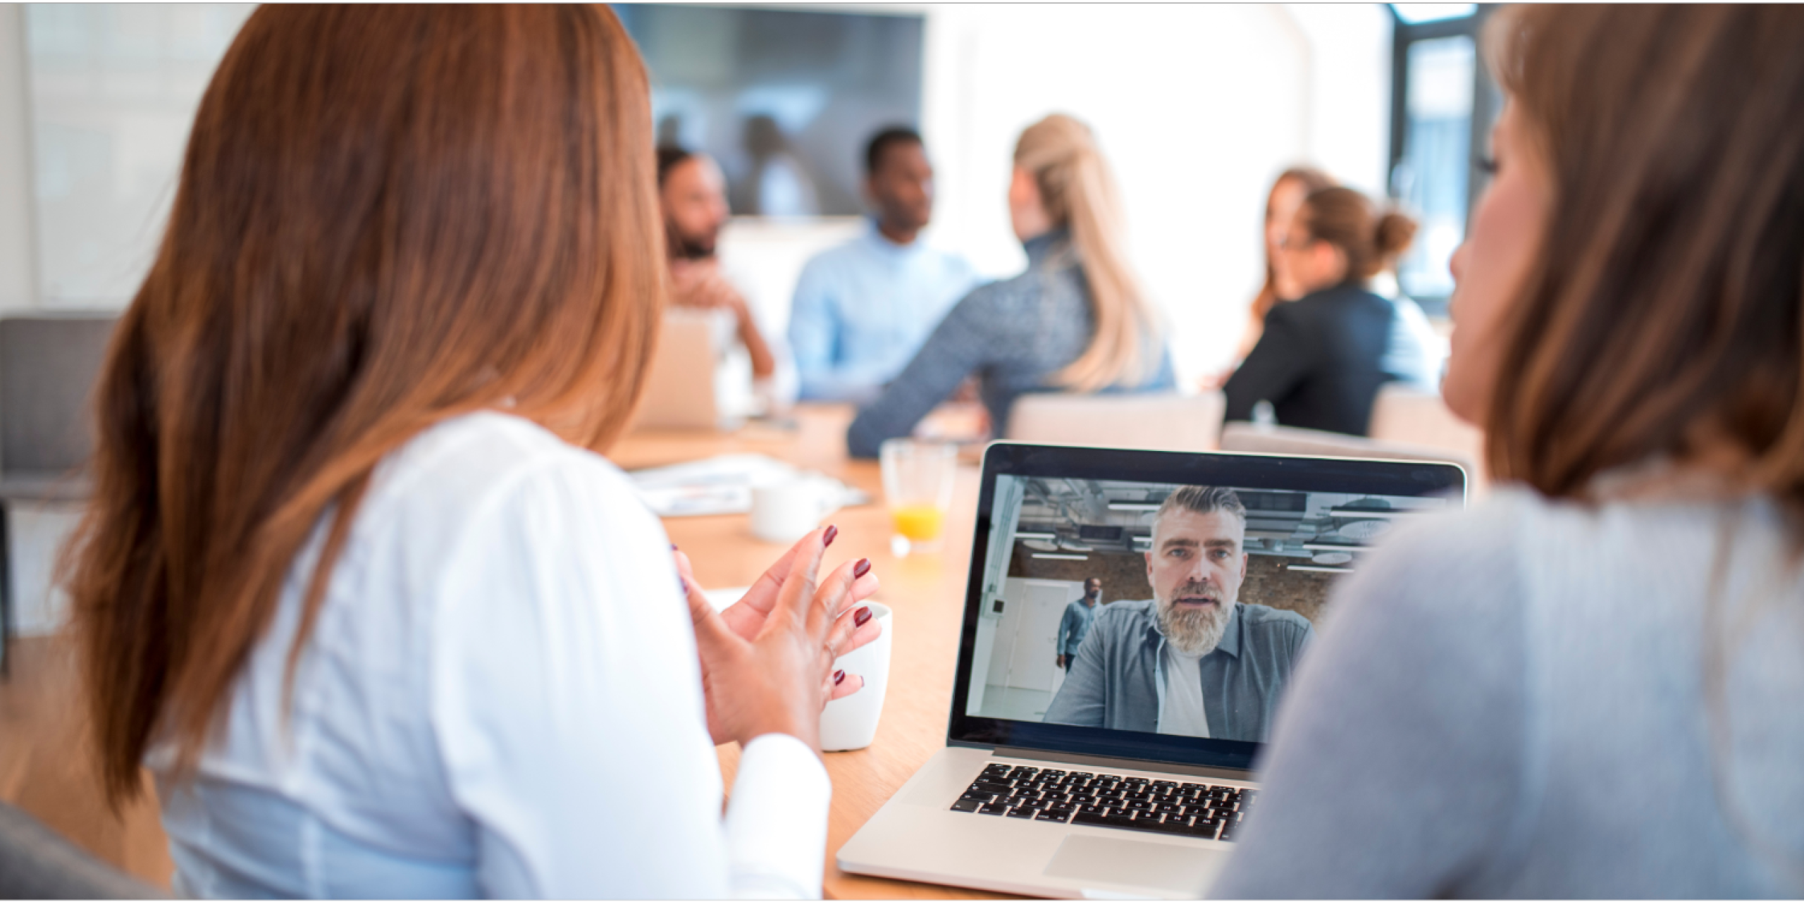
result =
[[[978,276],[922,244],[933,216],[933,164],[920,135],[888,128],[864,153],[871,227],[823,251],[796,281],[788,339],[805,400],[870,400]]]

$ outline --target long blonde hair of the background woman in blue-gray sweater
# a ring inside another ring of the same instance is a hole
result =
[[[1120,191],[1095,135],[1054,114],[1021,132],[1014,162],[1034,177],[1046,215],[1070,227],[1095,314],[1090,346],[1054,382],[1075,391],[1144,384],[1158,372],[1164,328],[1128,265]]]

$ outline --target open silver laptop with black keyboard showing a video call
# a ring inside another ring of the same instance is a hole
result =
[[[1200,897],[1257,817],[1259,752],[1328,590],[1465,487],[1441,462],[990,446],[945,749],[839,868]]]

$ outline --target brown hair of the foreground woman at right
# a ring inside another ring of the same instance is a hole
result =
[[[1551,173],[1492,473],[1555,498],[1728,447],[1804,514],[1804,9],[1521,5],[1486,31]]]

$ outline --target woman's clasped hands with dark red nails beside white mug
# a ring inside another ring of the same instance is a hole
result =
[[[805,536],[720,613],[702,595],[689,557],[675,552],[716,745],[788,732],[819,747],[821,707],[864,686],[862,676],[835,673],[833,658],[880,633],[870,608],[857,604],[877,592],[877,577],[862,559],[841,565],[817,584],[815,572],[835,534],[826,527]]]

